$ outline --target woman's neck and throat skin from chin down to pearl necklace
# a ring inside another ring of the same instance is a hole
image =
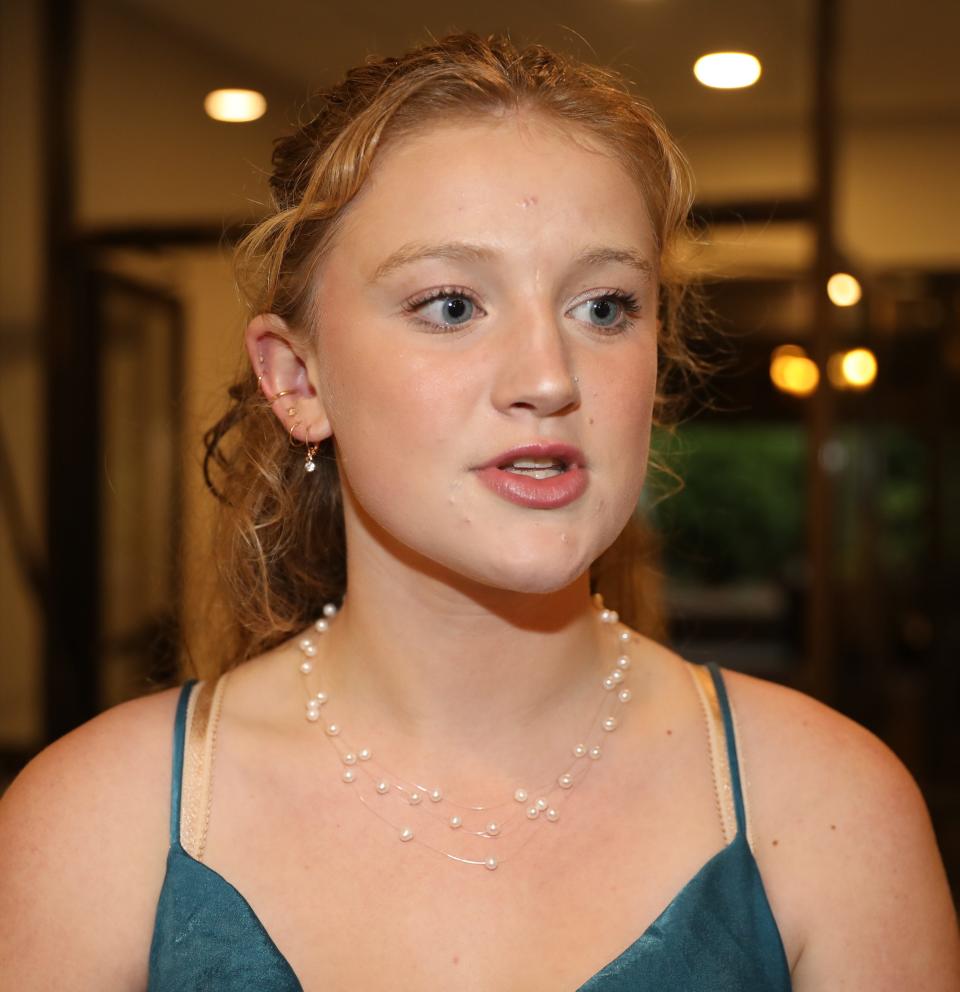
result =
[[[324,716],[352,743],[398,770],[492,782],[552,769],[586,734],[618,653],[586,575],[549,594],[379,578],[351,572],[318,639]]]

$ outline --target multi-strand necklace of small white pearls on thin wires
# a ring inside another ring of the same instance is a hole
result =
[[[600,598],[599,594],[594,596],[594,602],[597,606],[599,617],[601,623],[604,624],[616,624],[619,621],[619,616],[614,610],[608,610],[603,607],[603,600]],[[317,619],[313,624],[313,629],[317,634],[324,634],[330,629],[330,623],[332,619],[337,614],[337,606],[333,603],[327,603],[323,607],[323,615]],[[630,643],[631,635],[626,629],[620,630],[617,634],[617,640],[620,645],[620,651],[625,652],[627,644]],[[330,694],[324,692],[322,689],[319,691],[312,691],[310,689],[309,681],[310,675],[314,671],[313,659],[317,654],[317,646],[312,636],[306,635],[300,638],[297,643],[297,647],[300,651],[301,661],[300,661],[300,674],[303,677],[303,687],[306,693],[306,719],[310,723],[316,723],[320,720],[320,709],[325,706],[330,701]],[[617,658],[615,667],[609,672],[608,675],[602,680],[602,685],[604,692],[601,696],[600,704],[594,713],[593,719],[590,723],[590,729],[588,734],[585,735],[585,740],[589,741],[592,735],[596,732],[597,722],[605,708],[608,708],[608,700],[613,695],[613,690],[617,690],[613,698],[615,700],[613,706],[616,708],[622,708],[623,705],[628,703],[631,698],[631,691],[623,683],[626,679],[626,672],[630,668],[630,658],[625,653],[621,653]],[[604,733],[612,733],[619,726],[619,720],[612,713],[608,713],[602,721],[600,721],[600,726],[603,728]],[[532,823],[540,818],[542,813],[544,818],[550,823],[557,823],[560,819],[560,811],[557,808],[559,802],[557,801],[561,795],[569,792],[570,789],[574,787],[578,782],[580,782],[590,771],[592,765],[599,761],[603,755],[603,748],[598,743],[586,744],[586,743],[576,743],[571,748],[571,754],[573,756],[573,761],[569,761],[564,769],[556,776],[556,778],[546,786],[542,786],[536,789],[530,789],[525,786],[519,786],[513,794],[512,800],[506,800],[504,802],[495,803],[493,805],[469,805],[459,802],[455,802],[452,799],[448,799],[444,793],[444,790],[438,786],[433,786],[432,788],[425,787],[423,785],[408,782],[401,779],[399,776],[392,775],[379,765],[377,762],[373,761],[373,751],[369,747],[354,748],[350,746],[343,734],[343,728],[339,723],[330,722],[324,724],[324,732],[326,739],[330,742],[331,746],[336,751],[341,764],[344,768],[340,774],[341,781],[345,785],[356,786],[354,791],[356,792],[357,798],[366,806],[371,812],[375,813],[381,820],[389,824],[393,829],[397,830],[397,837],[401,842],[408,842],[411,840],[417,840],[418,843],[430,848],[438,854],[442,854],[445,857],[450,858],[453,861],[459,861],[464,864],[471,865],[483,865],[485,868],[493,871],[498,865],[504,862],[504,858],[497,858],[494,855],[488,855],[481,861],[477,861],[471,858],[463,858],[458,855],[451,853],[450,851],[445,851],[441,848],[430,844],[423,839],[416,836],[413,828],[409,823],[402,823],[398,825],[389,817],[384,815],[382,812],[383,807],[386,805],[386,798],[391,794],[398,795],[401,800],[405,801],[408,807],[415,808],[421,807],[425,812],[429,813],[434,819],[445,819],[446,826],[453,831],[466,832],[472,834],[476,837],[483,837],[490,840],[499,840],[504,836],[504,832],[510,832],[508,828],[512,827],[514,820],[520,819],[522,824],[524,821]],[[600,735],[601,737],[603,734]],[[339,745],[338,745],[339,742]],[[588,760],[584,761],[586,758]],[[384,774],[373,774],[369,769],[370,767],[376,767],[380,772]],[[362,772],[364,777],[373,785],[376,791],[379,801],[374,799],[373,803],[367,801],[363,795],[363,791],[359,788],[360,778],[358,772]],[[561,790],[557,792],[557,797],[555,799],[549,798],[556,792],[556,790]],[[530,797],[536,795],[537,798],[530,802]],[[424,799],[428,802],[424,805]],[[483,817],[487,822],[484,824],[480,830],[468,829],[465,826],[464,816],[460,812],[455,812],[452,815],[443,817],[438,817],[436,814],[430,811],[431,806],[439,807],[440,804],[445,804],[448,807],[454,807],[459,810],[469,811],[471,813],[487,813],[489,815],[491,810],[502,809],[504,806],[511,807],[511,813],[507,814],[503,821],[497,819],[488,819],[488,817]],[[520,818],[516,814],[516,810],[523,807],[525,816]],[[520,845],[520,848],[526,846],[532,838],[532,834]],[[517,848],[517,852],[520,850]],[[514,852],[514,853],[517,853]],[[511,855],[512,857],[512,855]]]

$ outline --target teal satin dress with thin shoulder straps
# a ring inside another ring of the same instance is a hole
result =
[[[719,669],[708,668],[726,729],[736,836],[577,992],[781,992],[791,987],[780,933],[746,839],[730,703]],[[181,846],[180,786],[192,685],[183,686],[174,726],[170,850],[150,946],[149,992],[302,992],[247,900]]]

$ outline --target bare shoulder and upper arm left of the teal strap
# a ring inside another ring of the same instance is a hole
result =
[[[168,847],[178,692],[123,703],[78,727],[0,800],[3,988],[144,987]]]

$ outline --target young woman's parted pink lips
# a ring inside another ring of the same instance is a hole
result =
[[[545,479],[508,471],[516,461],[558,462],[563,471]],[[586,459],[579,448],[569,444],[525,444],[501,452],[476,469],[477,478],[487,488],[511,503],[534,510],[554,510],[578,500],[586,492]]]

